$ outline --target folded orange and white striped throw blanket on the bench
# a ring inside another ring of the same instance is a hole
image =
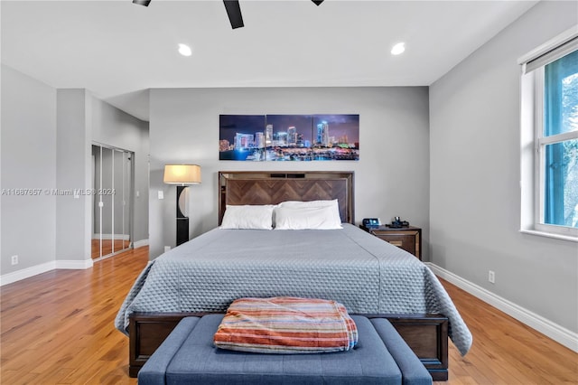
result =
[[[233,301],[214,336],[222,349],[284,354],[349,351],[357,342],[345,306],[286,296]]]

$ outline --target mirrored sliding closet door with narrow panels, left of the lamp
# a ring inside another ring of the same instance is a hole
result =
[[[106,258],[132,248],[134,153],[92,145],[92,258]]]

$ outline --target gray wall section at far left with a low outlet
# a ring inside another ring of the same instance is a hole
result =
[[[56,90],[2,65],[2,189],[56,187]],[[33,113],[32,113],[33,112]],[[56,199],[0,196],[2,274],[55,258]],[[11,265],[10,257],[20,262]]]

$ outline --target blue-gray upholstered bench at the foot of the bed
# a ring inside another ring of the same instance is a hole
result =
[[[222,318],[183,318],[139,371],[139,385],[432,383],[387,319],[352,316],[359,343],[350,352],[263,354],[216,348],[212,338]]]

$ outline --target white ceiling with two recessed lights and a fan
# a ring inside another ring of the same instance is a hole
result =
[[[147,120],[152,88],[427,86],[537,1],[239,3],[233,30],[220,0],[2,1],[2,62]]]

